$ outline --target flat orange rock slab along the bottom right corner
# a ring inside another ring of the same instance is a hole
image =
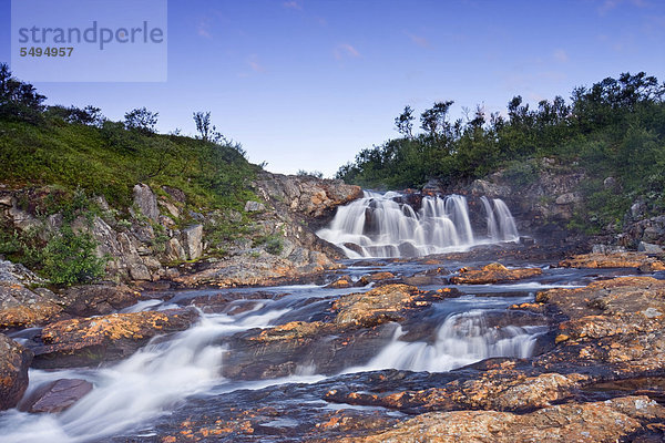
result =
[[[338,442],[614,443],[649,421],[664,418],[665,409],[656,402],[646,396],[627,396],[562,404],[522,415],[497,411],[430,412],[381,433]]]

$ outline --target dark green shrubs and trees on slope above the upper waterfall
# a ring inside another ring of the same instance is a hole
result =
[[[420,187],[430,178],[444,184],[509,168],[535,177],[534,157],[553,157],[585,171],[585,208],[579,226],[595,230],[621,220],[632,202],[646,200],[652,213],[665,206],[665,83],[641,72],[576,87],[571,102],[556,96],[531,110],[516,96],[508,119],[478,106],[466,119],[449,120],[452,102],[436,103],[420,115],[396,119],[401,137],[362,150],[337,176],[374,188]],[[603,185],[614,177],[621,192]]]

